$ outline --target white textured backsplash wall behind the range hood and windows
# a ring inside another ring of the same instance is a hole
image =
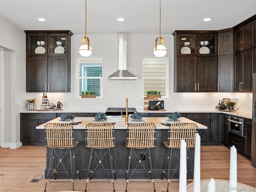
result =
[[[157,34],[127,34],[127,70],[138,77],[137,80],[109,80],[108,76],[118,69],[118,33],[117,34],[93,34],[88,35],[93,53],[91,57],[103,59],[103,98],[84,99],[76,98],[76,60],[80,57],[79,47],[82,45],[84,35],[73,35],[71,44],[71,92],[70,93],[47,93],[50,102],[63,103],[64,109],[96,109],[106,110],[108,107],[125,107],[125,98],[128,98],[128,106],[136,109],[144,108],[142,97],[142,57],[153,57],[152,52]],[[238,98],[240,110],[252,110],[251,93],[174,93],[174,39],[171,34],[162,35],[169,58],[169,98],[164,99],[165,109],[212,110],[222,98]],[[184,72],[186,75],[186,72]],[[42,93],[32,93],[31,98],[36,97],[38,106]],[[211,103],[211,98],[214,102]],[[173,102],[172,102],[173,101]],[[244,101],[242,103],[242,101]]]

